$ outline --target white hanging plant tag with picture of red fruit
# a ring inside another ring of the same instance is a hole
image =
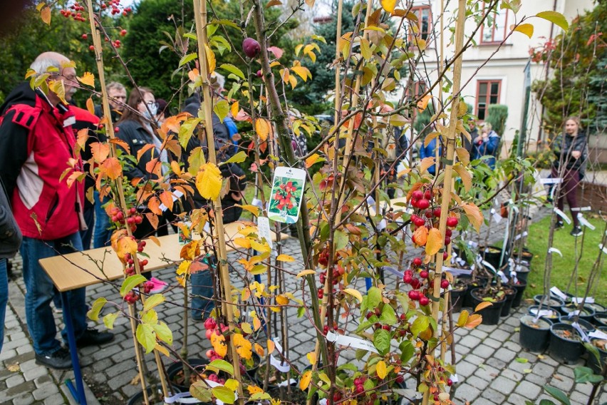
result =
[[[268,210],[269,219],[294,224],[304,199],[305,170],[281,166],[274,172]]]

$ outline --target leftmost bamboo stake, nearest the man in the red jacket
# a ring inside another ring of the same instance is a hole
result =
[[[86,6],[88,9],[88,21],[90,24],[90,32],[91,35],[93,36],[93,46],[95,46],[95,61],[97,63],[97,71],[98,71],[98,76],[99,76],[99,86],[100,86],[100,90],[101,90],[101,106],[103,107],[103,116],[105,116],[106,118],[106,122],[105,122],[105,128],[107,128],[106,130],[106,134],[108,135],[108,138],[110,139],[114,139],[114,128],[113,128],[113,123],[112,123],[112,119],[111,119],[111,111],[110,111],[110,103],[108,100],[108,92],[105,91],[105,71],[103,70],[103,48],[101,45],[101,36],[99,33],[99,30],[95,27],[95,17],[93,14],[93,4],[92,4],[92,0],[86,0]],[[115,143],[110,143],[110,156],[114,157],[116,156],[116,144]],[[122,178],[117,178],[115,180],[115,185],[116,185],[116,193],[118,193],[118,199],[119,199],[119,203],[120,203],[120,207],[123,207],[123,210],[126,210],[126,200],[125,200],[125,195],[124,195],[124,190],[123,190],[123,183],[122,183]],[[130,227],[126,227],[127,230],[127,235],[129,237],[133,236],[133,233],[130,230]],[[138,275],[141,274],[141,269],[139,267],[139,260],[137,258],[137,254],[135,253],[133,255],[133,264],[135,265],[135,272],[137,272]],[[141,302],[145,303],[145,298],[143,296],[141,297]],[[145,378],[143,376],[143,371],[142,371],[142,357],[140,354],[140,351],[137,349],[138,348],[138,342],[137,342],[137,338],[136,338],[136,324],[135,324],[135,307],[133,304],[129,304],[129,314],[130,314],[130,326],[131,326],[131,332],[133,334],[133,343],[135,344],[135,356],[137,358],[137,365],[138,365],[138,371],[139,371],[139,377],[141,380],[141,388],[143,390],[143,399],[145,401],[145,403],[148,403],[148,399],[147,399],[147,387],[145,386]],[[158,351],[156,349],[154,349],[154,356],[155,356],[155,360],[156,360],[156,365],[158,367],[158,371],[159,371],[159,376],[160,376],[160,384],[162,385],[162,394],[167,397],[169,396],[169,391],[167,388],[167,381],[165,379],[165,375],[162,372],[162,361],[160,359],[160,354],[158,353]]]

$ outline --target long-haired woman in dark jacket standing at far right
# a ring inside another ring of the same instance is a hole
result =
[[[578,220],[578,188],[588,162],[588,138],[580,123],[579,117],[569,117],[565,121],[565,133],[557,136],[552,143],[552,151],[556,158],[552,162],[552,178],[562,178],[557,206],[563,210],[565,198],[571,217],[574,220],[574,228],[571,236],[582,234]],[[556,222],[556,227],[563,227],[562,220]]]

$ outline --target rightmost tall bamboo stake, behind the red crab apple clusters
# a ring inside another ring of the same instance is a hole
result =
[[[462,55],[460,51],[464,44],[464,26],[466,21],[466,1],[459,0],[457,6],[457,22],[455,26],[455,54],[459,55],[455,59],[453,66],[453,100],[451,103],[451,114],[449,119],[449,130],[447,132],[447,161],[445,163],[445,180],[442,186],[442,201],[440,209],[439,230],[441,240],[445,239],[445,231],[447,230],[447,215],[449,214],[449,203],[451,201],[451,179],[453,174],[453,159],[455,158],[455,133],[457,126],[457,111],[460,103],[460,83],[462,81]],[[434,278],[432,301],[432,318],[438,322],[438,311],[440,305],[440,279],[442,276],[442,254],[439,252],[436,260],[436,272]],[[444,308],[443,308],[444,310]],[[438,330],[434,331],[437,337]],[[430,354],[429,362],[433,361],[433,354]],[[430,399],[430,391],[426,391],[422,404],[427,405]]]

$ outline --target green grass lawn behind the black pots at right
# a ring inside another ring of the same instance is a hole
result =
[[[534,253],[534,258],[531,261],[531,273],[527,280],[527,288],[525,297],[531,298],[535,294],[544,292],[544,265],[546,263],[546,253],[548,251],[548,233],[550,229],[550,217],[545,217],[543,220],[534,223],[529,227],[529,239],[527,247],[530,252]],[[588,230],[584,228],[583,255],[578,266],[578,277],[576,280],[577,292],[574,289],[574,284],[571,284],[569,293],[576,294],[582,297],[586,291],[588,275],[594,262],[598,258],[598,245],[601,243],[601,237],[605,230],[605,222],[600,219],[589,220],[596,230]],[[556,286],[565,292],[567,284],[571,279],[576,262],[576,238],[569,235],[571,225],[565,226],[561,230],[557,230],[554,234],[554,247],[563,253],[561,257],[558,253],[552,253],[552,272],[551,284],[548,287]],[[581,237],[577,238],[578,246],[577,253],[581,248]],[[591,289],[591,294],[599,304],[607,304],[607,258],[603,258],[603,271],[601,277],[596,277],[595,283]]]

